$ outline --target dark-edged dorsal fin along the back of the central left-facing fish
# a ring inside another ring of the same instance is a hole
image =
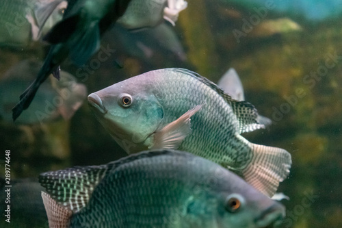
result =
[[[193,71],[189,71],[183,68],[168,68],[167,70],[176,71],[184,73],[191,77],[195,77],[196,79],[202,81],[205,85],[215,90],[215,92],[217,92],[221,97],[223,97],[224,101],[226,101],[226,103],[228,103],[228,105],[232,107],[235,116],[237,116],[237,120],[239,121],[240,134],[248,131],[254,131],[255,129],[265,128],[264,125],[258,122],[258,111],[251,103],[248,103],[247,101],[236,101],[235,99],[232,99],[231,96],[224,93],[224,91],[212,81],[205,77],[202,77],[201,75],[198,75],[198,73],[195,73]]]

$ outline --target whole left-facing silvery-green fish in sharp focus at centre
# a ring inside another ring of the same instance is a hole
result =
[[[241,136],[264,127],[254,106],[231,99],[192,71],[150,71],[90,94],[88,103],[129,154],[146,149],[188,151],[235,171],[268,196],[289,175],[287,151]]]

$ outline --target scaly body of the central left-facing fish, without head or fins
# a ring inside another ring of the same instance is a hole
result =
[[[192,116],[192,134],[183,140],[179,149],[194,151],[195,155],[207,157],[224,166],[243,169],[252,160],[252,153],[248,144],[235,134],[238,121],[232,108],[202,79],[192,75],[183,77],[181,71],[169,71],[167,74],[168,77],[159,77],[162,74],[156,72],[153,77],[146,75],[143,79],[156,81],[157,98],[159,101],[167,101],[163,109],[168,115],[164,116],[161,126],[176,120],[194,105],[204,104]],[[241,143],[234,143],[236,141]],[[238,157],[241,159],[238,160]]]

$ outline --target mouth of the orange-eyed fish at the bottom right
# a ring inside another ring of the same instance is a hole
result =
[[[268,207],[267,210],[254,221],[258,228],[272,228],[278,227],[284,218],[285,207],[277,203]]]

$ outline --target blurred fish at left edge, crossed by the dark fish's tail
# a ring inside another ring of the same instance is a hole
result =
[[[13,123],[12,107],[18,96],[36,77],[41,62],[23,60],[12,66],[0,79],[0,116],[4,121]],[[44,81],[27,112],[19,116],[15,123],[36,124],[49,123],[61,118],[68,120],[81,107],[87,96],[87,88],[77,83],[73,75],[61,71],[60,81],[50,79]]]

